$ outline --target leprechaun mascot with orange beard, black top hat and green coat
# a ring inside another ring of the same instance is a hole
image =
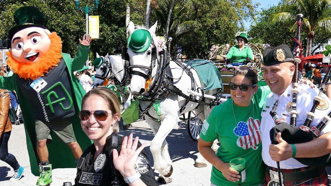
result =
[[[14,20],[7,64],[15,73],[1,76],[0,87],[17,93],[31,172],[38,175],[39,163],[37,185],[48,185],[52,168],[75,167],[81,148],[91,145],[78,117],[85,91],[73,74],[87,60],[91,37],[79,39],[78,52],[71,58],[62,53],[61,38],[43,26],[45,15],[37,8],[19,8]]]

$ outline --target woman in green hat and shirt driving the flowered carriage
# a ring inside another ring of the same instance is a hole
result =
[[[239,66],[243,65],[244,61],[251,61],[253,58],[253,51],[250,47],[246,46],[245,43],[248,42],[247,34],[245,32],[241,32],[236,36],[236,41],[238,45],[230,48],[224,60],[231,60],[231,65]],[[248,59],[249,58],[249,59]]]

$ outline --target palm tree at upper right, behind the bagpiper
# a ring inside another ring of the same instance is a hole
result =
[[[296,15],[303,14],[303,30],[308,34],[306,56],[310,56],[311,45],[316,33],[331,33],[331,0],[281,0],[281,6],[287,12],[276,13],[273,22],[297,29]]]

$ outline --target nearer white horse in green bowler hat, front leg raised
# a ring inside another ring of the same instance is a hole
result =
[[[152,39],[154,43],[157,44],[157,36],[155,35],[157,23],[155,23],[148,31],[151,33]],[[140,28],[140,27],[137,27]],[[129,24],[129,32],[132,34],[135,31],[134,24],[130,22]],[[149,48],[144,52],[134,52],[130,49],[127,49],[130,62],[129,62],[129,68],[130,68],[130,74],[132,75],[131,82],[129,85],[129,90],[131,91],[133,96],[140,97],[140,96],[146,96],[146,93],[150,87],[148,84],[146,85],[146,75],[150,73],[150,70],[146,67],[151,67],[151,77],[155,77],[158,69],[158,65],[155,65],[153,68],[152,65],[152,55],[153,51],[152,48],[155,47],[153,45],[153,42],[150,44]],[[160,61],[159,53],[157,53],[157,62]],[[155,64],[158,64],[158,63]],[[184,66],[186,64],[183,63]],[[141,68],[142,67],[142,68]],[[145,68],[144,68],[145,67]],[[172,74],[173,77],[173,85],[175,85],[178,89],[180,89],[184,94],[189,95],[187,93],[188,89],[191,89],[191,78],[188,74],[183,72],[183,68],[177,65],[175,62],[170,61],[169,64],[170,72],[169,74]],[[190,69],[190,67],[187,67]],[[138,71],[136,73],[132,73],[133,71]],[[197,87],[205,88],[206,85],[199,79],[198,74],[195,70],[191,70],[193,77],[195,79]],[[142,75],[141,75],[142,74]],[[146,75],[144,75],[146,74]],[[143,77],[145,76],[145,77]],[[148,76],[148,75],[147,75]],[[155,81],[155,78],[152,79],[152,82],[150,84],[153,84]],[[145,85],[148,89],[145,89]],[[205,94],[213,95],[217,92],[216,89],[206,91]],[[211,100],[206,99],[206,102],[209,103]],[[209,102],[208,102],[209,100]],[[178,96],[172,92],[167,94],[165,97],[162,97],[160,99],[160,105],[161,105],[161,112],[162,116],[158,116],[155,110],[149,109],[147,113],[150,115],[145,115],[145,119],[148,123],[148,125],[153,130],[155,137],[151,141],[150,150],[153,155],[154,159],[154,168],[160,172],[162,177],[166,180],[168,183],[171,179],[167,179],[172,174],[172,161],[169,156],[168,152],[168,145],[166,142],[166,136],[171,132],[173,127],[178,123],[179,116],[183,113],[186,113],[188,111],[195,110],[196,113],[199,113],[199,117],[202,121],[204,121],[207,116],[209,115],[210,107],[201,105],[195,102],[188,102],[186,104],[186,108],[180,113],[180,108],[183,107],[186,103],[186,99],[184,99],[181,96]],[[142,109],[147,108],[151,102],[148,101],[140,101],[139,102]],[[198,107],[197,107],[198,106]],[[196,108],[197,107],[197,108]],[[155,118],[159,118],[161,122],[158,122],[155,120]],[[216,141],[216,140],[215,140]],[[215,146],[216,145],[216,146]],[[213,149],[217,150],[217,144],[213,145]],[[207,166],[207,162],[203,157],[200,155],[198,159],[196,160],[196,165],[198,167]],[[196,166],[195,165],[195,166]]]

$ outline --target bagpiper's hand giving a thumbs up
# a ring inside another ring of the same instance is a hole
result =
[[[269,146],[269,155],[273,161],[281,162],[292,157],[292,146],[283,140],[281,133],[276,136],[277,145]]]

